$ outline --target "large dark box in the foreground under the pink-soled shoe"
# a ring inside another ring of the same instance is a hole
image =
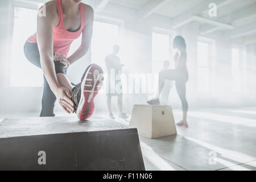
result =
[[[4,119],[0,170],[142,170],[137,129],[102,118]]]

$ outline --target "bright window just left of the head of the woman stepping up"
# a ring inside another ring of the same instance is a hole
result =
[[[163,61],[170,61],[170,35],[152,32],[152,72],[163,69]]]

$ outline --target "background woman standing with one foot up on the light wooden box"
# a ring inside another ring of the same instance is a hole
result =
[[[175,80],[175,86],[179,98],[182,104],[183,110],[183,119],[178,126],[188,127],[187,124],[187,112],[188,112],[188,102],[186,98],[186,83],[188,81],[188,70],[187,70],[187,53],[186,53],[186,44],[182,36],[176,36],[174,39],[174,48],[177,48],[178,52],[176,53],[175,60],[175,69],[169,69],[159,73],[159,89],[158,97],[154,100],[150,100],[147,103],[150,105],[160,104],[159,95],[162,92],[164,86],[164,80]]]

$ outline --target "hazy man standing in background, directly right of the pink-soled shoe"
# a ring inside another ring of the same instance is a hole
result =
[[[122,72],[122,67],[124,65],[121,64],[120,59],[117,56],[118,52],[119,46],[115,45],[113,46],[113,52],[105,58],[106,68],[108,70],[108,82],[106,86],[106,93],[108,97],[107,104],[109,110],[109,117],[114,119],[114,115],[112,113],[111,99],[112,96],[117,96],[119,118],[126,119],[127,115],[122,111],[122,90],[120,90],[122,89],[121,79],[117,78],[117,75]],[[113,86],[114,88],[112,89]],[[119,90],[117,90],[117,86],[119,87]]]

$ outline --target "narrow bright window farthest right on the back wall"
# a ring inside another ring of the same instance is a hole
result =
[[[241,67],[240,49],[232,48],[232,90],[235,93],[241,92]]]

